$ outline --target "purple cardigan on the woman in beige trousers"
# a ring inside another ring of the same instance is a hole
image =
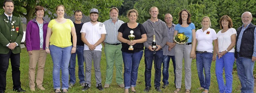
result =
[[[44,19],[43,19],[44,20]],[[46,39],[46,32],[48,27],[48,22],[44,20],[43,23],[43,49],[45,50],[45,39]],[[26,48],[27,51],[31,50],[40,50],[40,35],[39,35],[39,26],[36,23],[36,18],[32,19],[27,24],[26,29]]]

